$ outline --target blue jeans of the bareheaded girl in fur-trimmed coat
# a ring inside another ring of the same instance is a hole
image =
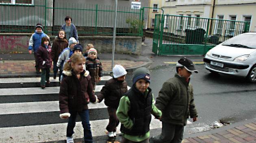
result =
[[[72,137],[74,134],[74,127],[76,125],[76,114],[79,114],[82,120],[82,127],[84,128],[84,139],[85,143],[92,143],[92,135],[91,135],[91,124],[89,122],[89,109],[84,109],[80,112],[72,112],[70,113],[70,117],[67,123],[67,137]]]

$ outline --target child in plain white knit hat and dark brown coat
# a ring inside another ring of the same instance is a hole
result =
[[[116,136],[116,127],[119,124],[116,111],[121,97],[127,91],[127,83],[125,81],[126,74],[127,72],[123,66],[115,65],[113,68],[113,78],[106,81],[97,96],[99,102],[104,99],[105,105],[108,106],[109,122],[106,127],[106,130],[108,130],[108,137]]]

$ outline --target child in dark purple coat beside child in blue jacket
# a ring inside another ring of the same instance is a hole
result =
[[[39,63],[39,68],[42,70],[41,73],[41,88],[44,89],[47,84],[50,84],[50,68],[52,66],[52,58],[51,58],[51,46],[49,46],[49,39],[47,37],[43,37],[41,41],[41,45],[37,49],[37,61]]]

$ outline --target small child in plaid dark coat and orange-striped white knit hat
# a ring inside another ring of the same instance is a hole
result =
[[[97,59],[97,50],[95,48],[91,48],[88,51],[85,65],[86,69],[90,72],[91,83],[93,84],[94,91],[95,84],[98,83],[102,77],[102,65],[100,60]]]

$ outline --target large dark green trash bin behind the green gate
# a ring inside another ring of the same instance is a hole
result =
[[[204,34],[206,33],[204,29],[197,28],[193,29],[186,29],[186,44],[202,44],[204,42]]]

